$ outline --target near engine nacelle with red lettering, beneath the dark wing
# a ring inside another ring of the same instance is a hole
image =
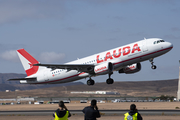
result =
[[[113,72],[114,67],[111,62],[102,63],[94,67],[94,73],[98,75],[108,74]]]

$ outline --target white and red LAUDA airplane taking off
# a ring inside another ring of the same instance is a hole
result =
[[[87,85],[94,85],[91,77],[108,74],[107,84],[113,84],[111,75],[114,71],[120,74],[133,74],[141,70],[141,63],[149,60],[151,68],[156,69],[154,58],[173,48],[173,44],[160,38],[140,40],[125,46],[77,59],[65,64],[41,64],[24,49],[17,54],[26,71],[27,77],[19,80],[22,84],[58,84],[89,78]]]

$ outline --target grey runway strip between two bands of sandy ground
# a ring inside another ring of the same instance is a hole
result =
[[[69,110],[73,115],[83,115],[81,110]],[[128,110],[99,110],[101,115],[116,116],[123,115]],[[0,115],[21,115],[21,116],[39,116],[52,115],[53,110],[28,110],[28,111],[0,111]],[[180,110],[139,110],[141,115],[180,115]]]

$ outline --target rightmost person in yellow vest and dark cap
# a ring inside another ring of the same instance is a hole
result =
[[[130,111],[124,114],[124,116],[124,120],[142,120],[142,117],[138,113],[135,104],[131,104]]]

